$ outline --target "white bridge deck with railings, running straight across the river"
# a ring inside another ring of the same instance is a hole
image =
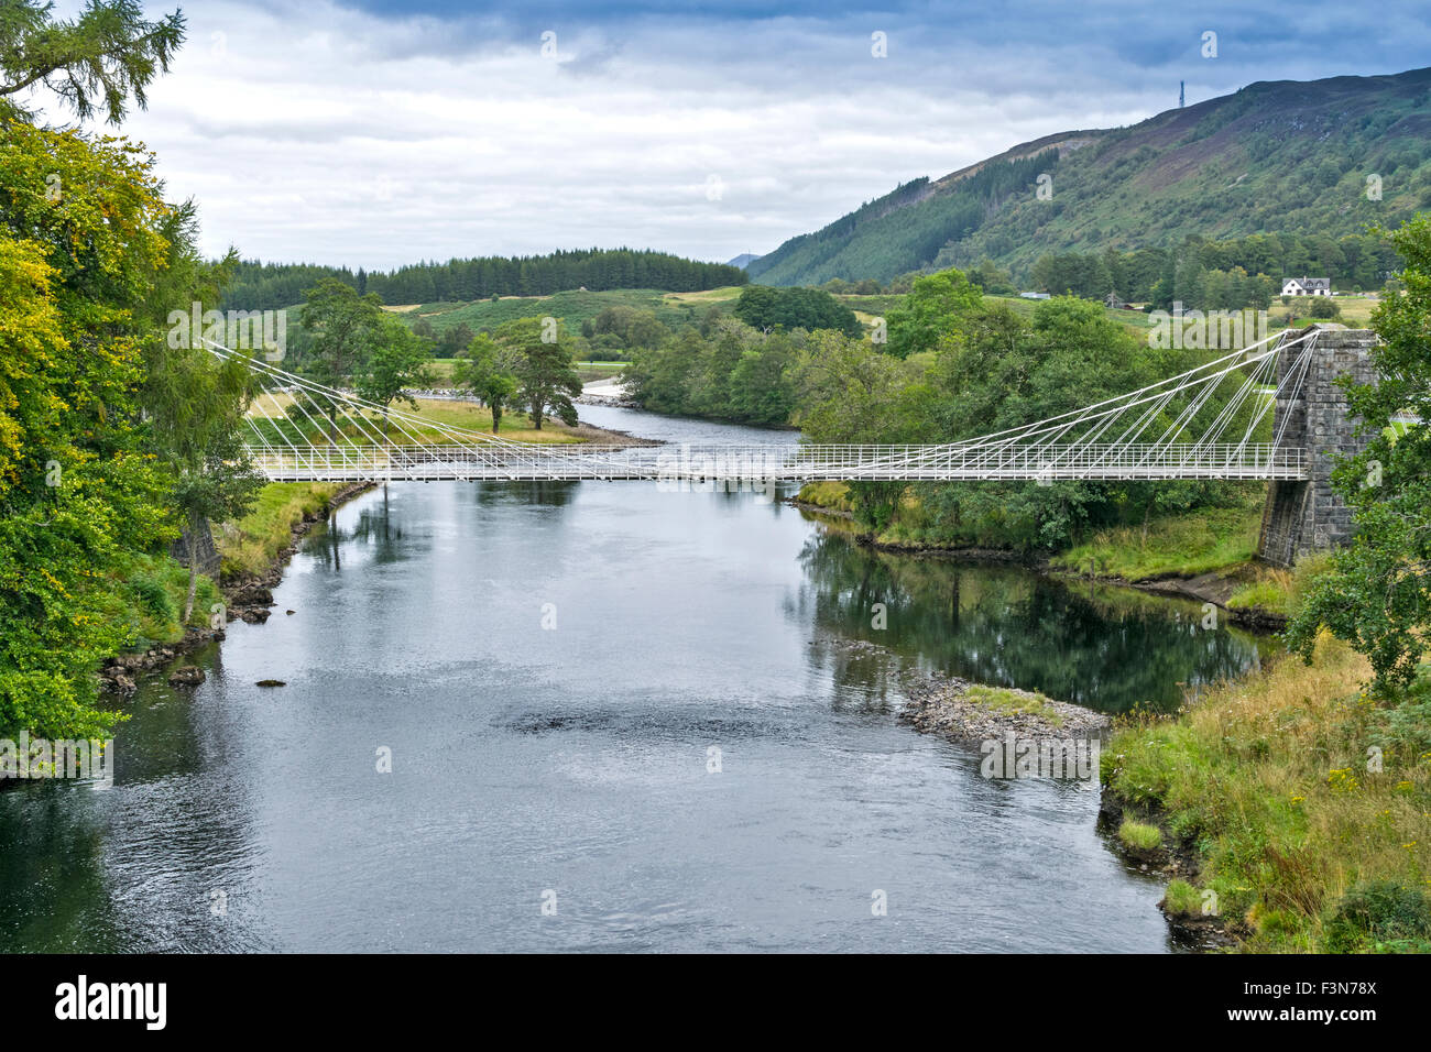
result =
[[[339,445],[252,447],[273,482],[319,481],[975,481],[1307,478],[1274,444],[1143,445]]]

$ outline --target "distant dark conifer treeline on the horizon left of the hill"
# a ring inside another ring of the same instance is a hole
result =
[[[376,292],[384,303],[469,302],[491,296],[547,296],[587,288],[664,289],[700,292],[724,285],[744,285],[738,266],[701,263],[665,252],[585,249],[544,256],[479,256],[446,263],[414,263],[392,273],[349,271],[315,263],[260,263],[245,260],[235,271],[223,306],[235,311],[270,311],[302,301],[303,291],[321,278],[336,278],[358,292]]]

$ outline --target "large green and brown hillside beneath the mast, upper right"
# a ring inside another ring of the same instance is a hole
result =
[[[1036,196],[1042,173],[1052,196]],[[1368,176],[1381,176],[1381,200]],[[983,259],[1026,278],[1046,252],[1188,236],[1362,233],[1431,208],[1431,69],[1261,82],[1130,127],[1022,143],[916,179],[747,266],[751,281],[889,281]]]

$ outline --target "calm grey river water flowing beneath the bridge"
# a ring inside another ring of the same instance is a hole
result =
[[[275,598],[126,703],[112,789],[0,792],[0,949],[1171,950],[1098,793],[983,779],[900,676],[1122,711],[1259,660],[1191,604],[640,482],[394,484]]]

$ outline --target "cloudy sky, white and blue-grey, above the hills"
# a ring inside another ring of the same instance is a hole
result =
[[[146,0],[150,17],[173,7]],[[724,260],[914,176],[1142,120],[1176,106],[1179,80],[1191,103],[1431,64],[1424,3],[1295,9],[197,0],[123,132],[157,152],[172,198],[199,200],[213,253]]]

